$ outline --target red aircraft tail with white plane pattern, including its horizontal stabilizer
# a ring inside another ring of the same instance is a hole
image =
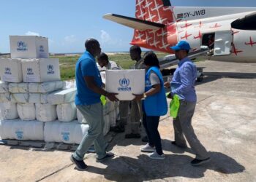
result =
[[[176,20],[170,0],[136,0],[136,18],[116,14],[107,14],[103,17],[134,28],[130,43],[133,45],[173,53],[170,46],[178,41]]]

